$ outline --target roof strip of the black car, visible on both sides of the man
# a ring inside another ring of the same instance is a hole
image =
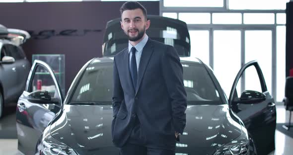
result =
[[[100,57],[94,58],[90,64],[100,64],[100,63],[113,63],[114,57]],[[183,63],[197,63],[204,64],[200,59],[195,57],[180,57],[180,61]]]

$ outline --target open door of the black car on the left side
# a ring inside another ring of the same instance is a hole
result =
[[[35,60],[16,108],[18,150],[35,153],[37,141],[63,106],[63,95],[52,68]]]

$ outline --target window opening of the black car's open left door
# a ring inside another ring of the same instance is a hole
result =
[[[37,65],[34,77],[31,79],[29,85],[29,92],[38,91],[38,90],[47,90],[51,97],[60,99],[60,96],[57,91],[54,79],[50,75],[50,72],[42,65]]]

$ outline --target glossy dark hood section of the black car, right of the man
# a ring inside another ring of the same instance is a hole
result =
[[[230,117],[228,105],[189,105],[186,109],[186,127],[176,152],[210,155],[241,134],[238,121]]]

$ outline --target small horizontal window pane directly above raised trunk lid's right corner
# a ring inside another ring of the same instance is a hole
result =
[[[210,24],[211,13],[179,13],[179,19],[187,24]]]

